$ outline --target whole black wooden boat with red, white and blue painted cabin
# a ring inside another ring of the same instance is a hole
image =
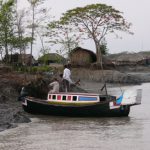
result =
[[[22,106],[29,113],[60,116],[128,116],[130,107],[141,104],[141,89],[126,91],[120,97],[95,93],[48,94],[47,100],[25,97]]]

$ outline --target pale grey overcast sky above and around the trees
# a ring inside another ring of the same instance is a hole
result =
[[[28,7],[27,0],[18,0],[20,7]],[[107,43],[110,53],[122,51],[138,52],[150,51],[150,0],[46,0],[45,4],[51,8],[51,14],[59,18],[66,10],[87,4],[104,3],[111,5],[115,9],[123,12],[124,18],[132,23],[131,31],[134,35],[125,33],[119,34],[122,39],[115,36],[108,36]],[[37,47],[37,45],[35,46]],[[40,49],[40,46],[38,46]],[[81,45],[95,51],[92,42]]]

